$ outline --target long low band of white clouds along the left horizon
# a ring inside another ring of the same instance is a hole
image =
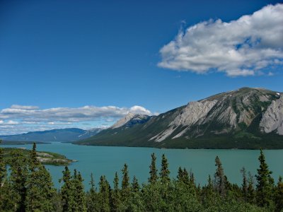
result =
[[[64,127],[74,127],[83,122],[115,122],[127,113],[148,114],[144,107],[54,107],[40,109],[36,106],[12,105],[0,110],[0,134],[19,134],[27,131],[38,131]],[[89,124],[89,123],[88,123]],[[94,126],[92,126],[94,127]]]

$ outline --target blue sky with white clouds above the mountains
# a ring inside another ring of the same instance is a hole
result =
[[[283,91],[282,1],[0,1],[0,135]]]

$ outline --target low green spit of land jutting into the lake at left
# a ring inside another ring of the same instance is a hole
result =
[[[28,155],[30,154],[30,150],[27,150],[25,148],[3,148],[3,150],[4,160],[6,160],[6,164],[10,164],[10,161],[12,159],[12,151],[21,151],[25,158],[28,158]],[[37,160],[39,160],[43,165],[69,165],[70,163],[76,162],[76,160],[70,160],[66,158],[66,156],[60,155],[58,153],[37,151],[36,154]]]

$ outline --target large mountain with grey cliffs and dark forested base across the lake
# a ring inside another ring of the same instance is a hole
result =
[[[240,88],[158,116],[128,114],[82,145],[157,148],[283,148],[283,93]],[[140,116],[142,121],[136,122]]]

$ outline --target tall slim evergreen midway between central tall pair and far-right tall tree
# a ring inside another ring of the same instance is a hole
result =
[[[216,166],[216,172],[214,174],[214,187],[216,189],[216,192],[221,194],[221,196],[224,196],[226,193],[226,189],[225,189],[226,180],[224,179],[224,170],[218,156],[216,156],[215,158],[215,166]]]

